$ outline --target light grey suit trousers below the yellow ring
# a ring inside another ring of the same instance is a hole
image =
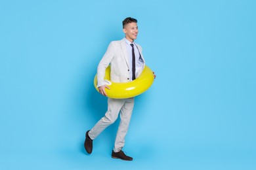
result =
[[[89,131],[89,137],[95,139],[106,127],[113,124],[120,112],[120,124],[116,134],[114,152],[119,152],[125,144],[125,135],[128,131],[131,114],[133,112],[134,97],[129,99],[112,99],[108,98],[108,110],[95,126]]]

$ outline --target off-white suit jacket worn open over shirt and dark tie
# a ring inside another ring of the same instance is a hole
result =
[[[140,52],[140,57],[143,63],[143,67],[137,70],[137,77],[142,73],[145,67],[145,60],[142,55],[142,48],[139,44],[137,47]],[[129,56],[127,52],[127,46],[125,39],[121,39],[120,41],[112,41],[108,46],[108,50],[104,54],[103,58],[98,63],[97,68],[97,87],[103,86],[107,84],[104,80],[106,67],[110,65],[110,80],[112,82],[129,82],[130,75],[129,70]]]

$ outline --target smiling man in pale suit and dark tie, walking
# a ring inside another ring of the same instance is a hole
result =
[[[112,41],[108,50],[100,60],[97,69],[98,91],[106,95],[105,88],[110,89],[104,81],[106,67],[110,65],[110,79],[112,82],[129,82],[137,78],[142,73],[145,60],[142,56],[142,48],[135,44],[137,39],[138,26],[135,18],[125,18],[123,20],[123,32],[125,38],[121,41]],[[113,124],[120,112],[120,124],[117,130],[112,158],[131,161],[133,158],[126,156],[121,150],[125,144],[125,135],[128,131],[131,114],[133,112],[134,97],[129,99],[108,98],[108,110],[95,126],[85,134],[85,150],[91,154],[93,151],[93,140],[110,124]]]

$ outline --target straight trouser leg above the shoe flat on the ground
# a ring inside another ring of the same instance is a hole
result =
[[[127,134],[129,123],[131,120],[131,114],[133,112],[134,97],[126,99],[120,112],[120,124],[117,130],[116,141],[114,146],[114,152],[119,152],[125,144],[125,135]]]

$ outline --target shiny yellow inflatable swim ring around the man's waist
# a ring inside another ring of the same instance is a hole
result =
[[[110,81],[110,66],[106,68],[106,73],[104,79],[109,82],[107,84],[110,87],[110,90],[105,89],[108,97],[114,99],[126,99],[129,97],[135,97],[145,92],[150,88],[150,86],[154,82],[154,74],[152,70],[145,66],[144,70],[140,74],[138,78],[131,82],[111,82]],[[95,75],[94,79],[95,88],[98,91],[97,86],[97,75]]]

